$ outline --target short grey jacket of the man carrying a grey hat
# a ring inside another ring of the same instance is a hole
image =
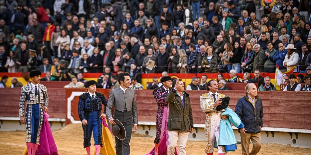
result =
[[[120,87],[110,91],[108,104],[106,108],[106,114],[108,118],[112,117],[111,108],[114,105],[114,109],[124,112],[124,106],[126,105],[127,111],[133,113],[134,124],[138,123],[137,106],[136,106],[136,95],[132,89],[126,89],[125,93]],[[113,117],[112,117],[113,118]]]

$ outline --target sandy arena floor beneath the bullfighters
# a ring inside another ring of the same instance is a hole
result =
[[[58,148],[59,155],[86,155],[83,148],[83,131],[81,124],[70,124],[59,131],[53,131],[53,136]],[[22,154],[26,148],[26,131],[0,131],[0,155]],[[113,138],[114,139],[114,138]],[[149,153],[153,148],[154,138],[143,137],[133,134],[130,142],[131,155],[143,155]],[[94,144],[94,142],[93,142]],[[203,155],[205,141],[187,142],[187,154]],[[241,145],[237,145],[238,150],[228,153],[228,155],[241,155]],[[250,146],[251,148],[252,146]],[[91,152],[95,149],[91,147]],[[216,155],[216,149],[214,154]],[[310,155],[311,149],[291,147],[281,144],[263,144],[258,155]]]

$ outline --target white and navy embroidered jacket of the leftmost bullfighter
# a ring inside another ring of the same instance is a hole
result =
[[[21,88],[21,98],[20,98],[20,108],[19,117],[25,116],[25,101],[27,104],[43,104],[43,106],[48,107],[49,96],[46,92],[46,87],[39,83],[39,97],[36,98],[35,90],[31,88],[31,84],[25,85]]]

